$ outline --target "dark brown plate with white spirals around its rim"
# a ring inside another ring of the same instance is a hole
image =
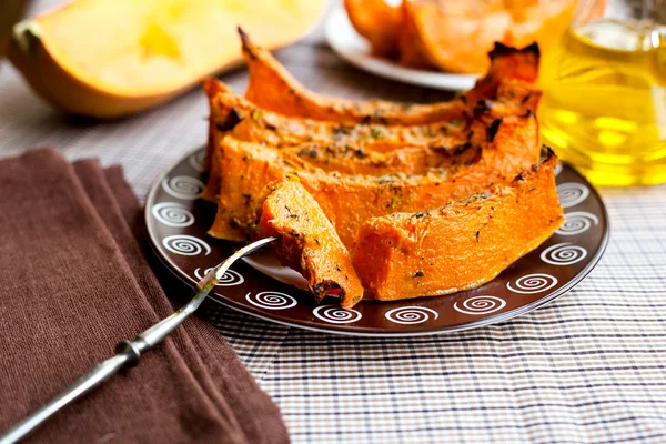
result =
[[[145,223],[164,264],[193,284],[233,253],[234,244],[206,235],[215,205],[200,199],[205,183],[201,148],[167,171],[151,189]],[[233,265],[211,295],[231,309],[315,331],[364,336],[408,336],[494,324],[533,311],[576,285],[598,262],[608,239],[606,210],[596,191],[571,167],[557,168],[566,222],[543,245],[492,282],[446,296],[395,302],[362,301],[354,310],[334,299],[315,305],[303,280],[270,254]]]

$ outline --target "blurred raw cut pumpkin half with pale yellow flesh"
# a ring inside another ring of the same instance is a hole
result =
[[[284,4],[77,0],[16,26],[7,53],[52,105],[92,118],[119,118],[242,64],[236,26],[244,26],[262,44],[279,48],[302,38],[326,1]]]

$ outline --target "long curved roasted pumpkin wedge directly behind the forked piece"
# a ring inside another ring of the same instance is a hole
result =
[[[349,175],[324,172],[305,162],[286,161],[279,150],[225,137],[214,153],[222,171],[218,213],[209,231],[214,238],[242,241],[253,231],[262,189],[284,174],[297,175],[353,251],[361,224],[370,218],[396,211],[440,206],[452,199],[506,183],[538,160],[538,124],[534,113],[494,118],[480,110],[474,121],[471,149],[478,150],[472,164],[433,169],[423,175]],[[487,117],[487,119],[484,119]]]

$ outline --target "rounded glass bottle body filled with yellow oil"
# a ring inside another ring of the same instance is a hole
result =
[[[666,182],[660,36],[649,23],[605,19],[569,30],[545,57],[544,143],[596,184]]]

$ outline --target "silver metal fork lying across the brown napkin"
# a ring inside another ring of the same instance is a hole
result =
[[[22,440],[44,421],[56,414],[56,412],[90,393],[93,389],[97,389],[102,383],[108,381],[121,369],[129,369],[139,364],[141,353],[152,350],[155,345],[162,342],[164,337],[169,336],[169,334],[171,334],[171,332],[173,332],[180,324],[182,324],[183,321],[190,316],[190,314],[194,313],[196,309],[199,309],[203,300],[208,296],[213,286],[220,282],[231,264],[243,258],[245,254],[252,253],[253,251],[276,240],[278,238],[261,239],[256,242],[245,245],[229,256],[224,262],[218,264],[215,268],[213,268],[213,270],[210,271],[210,273],[199,281],[199,283],[196,283],[194,294],[188,304],[183,305],[171,316],[165,317],[143,333],[140,333],[134,341],[120,342],[115,346],[115,355],[113,357],[97,364],[88,374],[81,376],[65,392],[56,396],[50,403],[11,427],[3,436],[0,437],[0,444],[11,444]]]

